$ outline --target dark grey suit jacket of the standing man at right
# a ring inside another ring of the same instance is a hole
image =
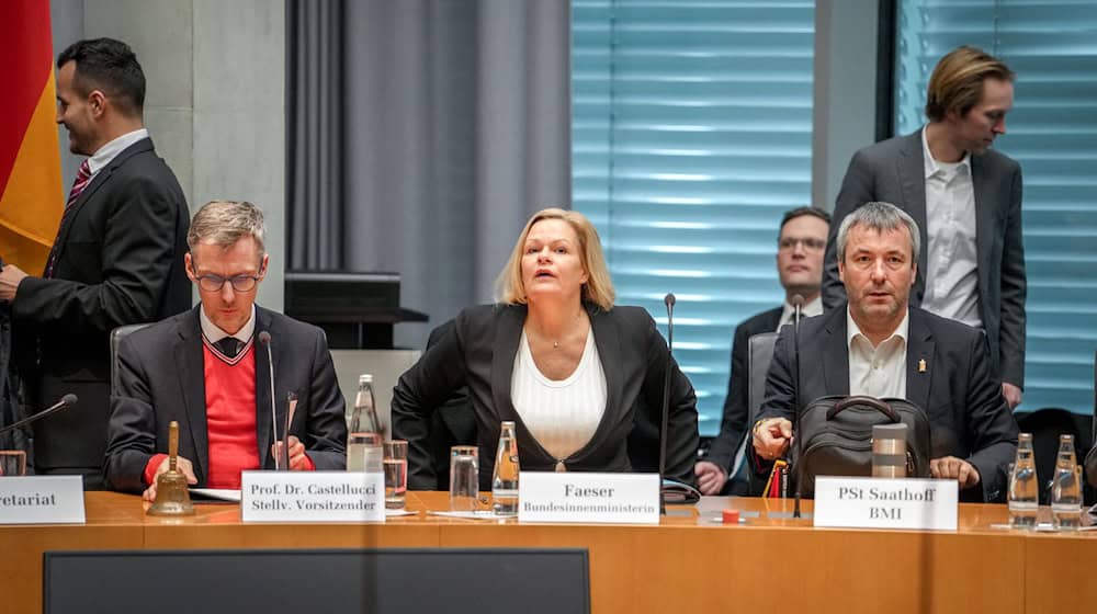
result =
[[[994,151],[971,157],[975,192],[975,248],[979,307],[991,346],[995,378],[1025,386],[1025,246],[1021,240],[1021,169]],[[911,305],[921,305],[926,292],[926,171],[921,130],[878,143],[853,155],[835,205],[834,224],[826,246],[823,306],[837,307],[846,299],[838,280],[836,240],[841,219],[871,201],[891,203],[918,223],[921,254]]]

